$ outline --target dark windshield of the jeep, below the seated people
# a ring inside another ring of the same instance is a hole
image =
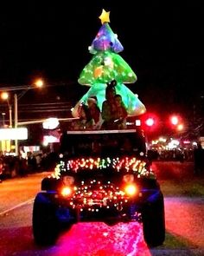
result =
[[[61,135],[61,153],[76,157],[143,157],[143,135],[136,129],[67,131]]]

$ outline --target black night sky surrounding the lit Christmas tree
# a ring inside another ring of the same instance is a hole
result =
[[[204,95],[201,1],[22,2],[0,6],[0,87],[30,84],[41,76],[57,85],[56,95],[80,100],[88,88],[77,80],[92,58],[88,46],[105,9],[124,46],[119,55],[137,75],[128,87],[148,110],[187,113]],[[41,101],[51,96],[47,89]]]

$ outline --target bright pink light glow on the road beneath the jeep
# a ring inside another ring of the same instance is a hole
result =
[[[139,223],[79,223],[61,235],[52,256],[150,256],[150,250],[143,241],[143,229]]]

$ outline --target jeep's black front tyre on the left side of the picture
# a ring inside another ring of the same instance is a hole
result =
[[[58,222],[54,206],[43,193],[37,194],[33,207],[33,235],[38,245],[54,244]]]

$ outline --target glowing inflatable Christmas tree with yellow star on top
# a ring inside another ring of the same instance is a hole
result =
[[[101,109],[102,103],[105,101],[105,88],[107,83],[112,80],[117,81],[116,92],[122,96],[128,115],[142,115],[146,111],[143,103],[138,99],[138,95],[124,85],[124,83],[136,82],[137,75],[127,62],[118,55],[124,48],[119,42],[117,34],[114,34],[109,26],[109,15],[110,11],[103,10],[99,16],[102,26],[89,46],[89,52],[93,56],[81,71],[78,80],[81,85],[86,85],[90,89],[73,108],[73,117],[79,116],[80,104],[82,102],[86,104],[87,99],[92,96],[97,97]]]

